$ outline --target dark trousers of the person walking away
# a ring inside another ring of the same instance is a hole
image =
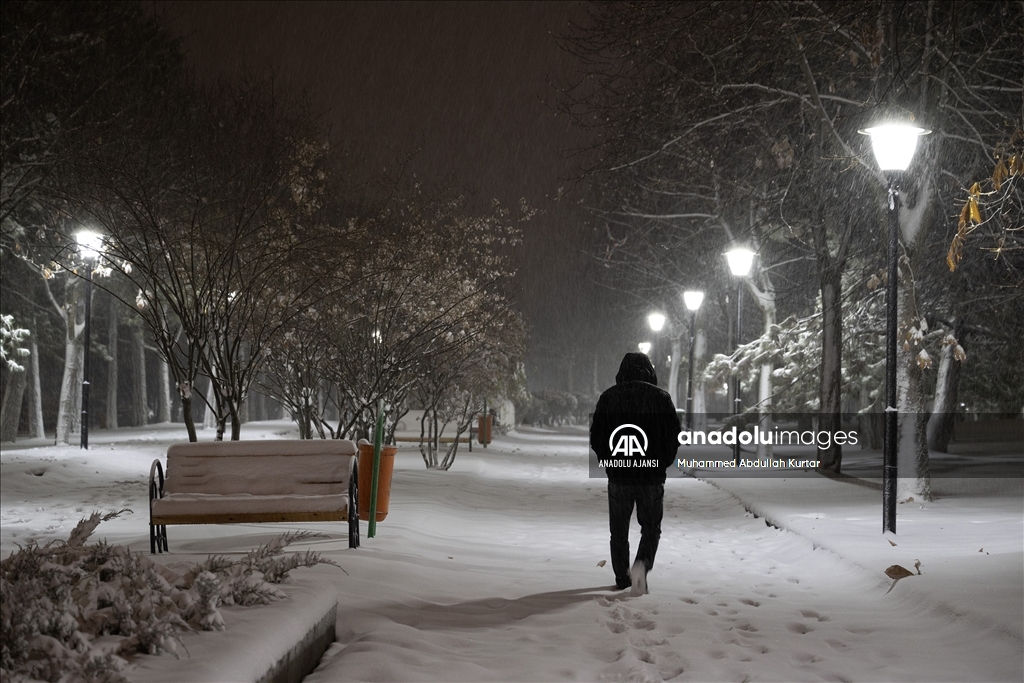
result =
[[[608,482],[608,522],[611,530],[611,568],[615,584],[630,585],[630,518],[633,506],[640,522],[640,547],[637,560],[647,571],[654,566],[657,543],[662,539],[662,516],[665,512],[665,484],[636,481]]]

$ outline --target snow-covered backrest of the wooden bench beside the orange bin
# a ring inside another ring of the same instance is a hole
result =
[[[167,450],[167,494],[347,494],[355,443],[345,439],[204,441]]]

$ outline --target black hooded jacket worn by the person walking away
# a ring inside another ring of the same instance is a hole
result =
[[[634,425],[639,430],[624,425]],[[676,461],[680,428],[676,407],[669,393],[658,388],[650,358],[646,353],[627,353],[615,375],[615,386],[601,394],[594,409],[590,447],[597,454],[599,467],[607,472],[609,480],[659,483]],[[623,435],[638,434],[640,430],[643,435],[633,443],[642,446],[645,436],[644,452],[639,455],[624,452]],[[654,460],[656,464],[651,462]],[[602,467],[602,462],[613,466]]]

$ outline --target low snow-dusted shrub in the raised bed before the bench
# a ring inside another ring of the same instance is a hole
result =
[[[124,512],[123,510],[121,512]],[[184,575],[140,553],[85,541],[106,515],[81,520],[67,542],[30,542],[0,563],[0,673],[17,681],[123,681],[126,657],[177,655],[179,634],[219,631],[222,604],[266,604],[285,597],[272,584],[291,569],[334,564],[313,552],[284,555],[289,533],[238,561],[210,557]],[[103,638],[118,636],[120,639]]]

